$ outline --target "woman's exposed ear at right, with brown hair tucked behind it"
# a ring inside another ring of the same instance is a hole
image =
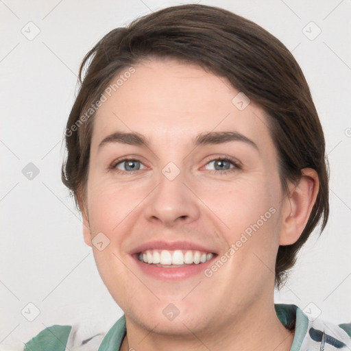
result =
[[[300,182],[291,186],[290,194],[283,199],[279,245],[291,245],[298,241],[315,204],[318,189],[317,172],[311,168],[302,169]]]

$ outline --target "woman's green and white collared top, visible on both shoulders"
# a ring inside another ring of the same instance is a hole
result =
[[[274,304],[278,319],[295,330],[290,351],[351,350],[351,323],[332,324],[319,318],[308,320],[295,304]],[[77,326],[50,326],[25,343],[25,351],[118,351],[125,337],[125,315],[108,332],[78,340]],[[101,342],[100,342],[101,341]],[[99,346],[99,348],[97,348]]]

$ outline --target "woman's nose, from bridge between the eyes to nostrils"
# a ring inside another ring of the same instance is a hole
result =
[[[159,222],[171,228],[177,223],[196,221],[199,218],[199,204],[191,182],[186,182],[184,173],[171,165],[160,172],[158,185],[150,194],[144,213],[147,221]]]

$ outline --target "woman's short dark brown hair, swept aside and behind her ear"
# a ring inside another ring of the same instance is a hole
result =
[[[66,125],[68,154],[62,165],[62,182],[82,210],[95,111],[85,119],[83,113],[122,69],[153,57],[197,64],[226,77],[263,108],[278,151],[285,194],[287,181],[297,182],[303,168],[317,171],[319,191],[306,227],[298,241],[278,248],[275,283],[280,289],[319,220],[320,232],[328,221],[328,162],[322,125],[300,66],[285,45],[252,21],[213,6],[178,5],[106,34],[80,66],[80,91]]]

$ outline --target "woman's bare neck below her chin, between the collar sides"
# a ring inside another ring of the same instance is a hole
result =
[[[278,319],[273,301],[266,308],[246,308],[240,318],[211,323],[196,335],[191,330],[186,330],[186,335],[165,335],[156,328],[145,330],[128,317],[126,322],[127,335],[121,351],[289,351],[294,337],[294,331],[287,330]]]

